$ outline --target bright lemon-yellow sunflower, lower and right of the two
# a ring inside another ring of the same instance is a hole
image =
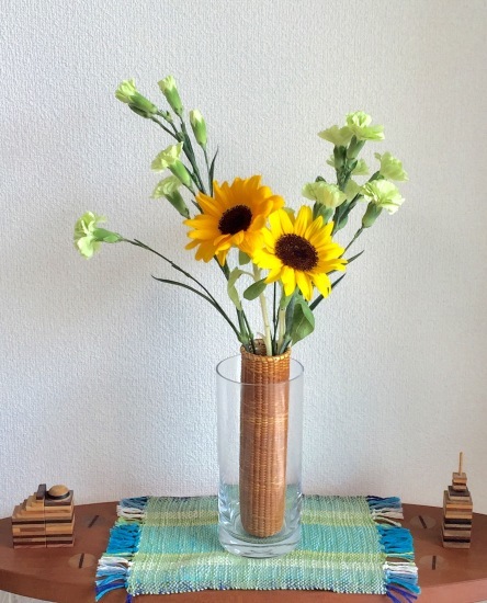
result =
[[[285,295],[296,285],[305,299],[313,297],[313,287],[327,297],[331,291],[328,273],[344,271],[344,249],[332,241],[333,223],[322,224],[319,216],[313,219],[310,207],[301,207],[297,216],[279,209],[269,216],[270,229],[263,230],[264,246],[252,254],[253,262],[270,270],[267,283],[281,280]]]

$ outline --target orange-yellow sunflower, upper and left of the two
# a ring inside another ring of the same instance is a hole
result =
[[[236,178],[231,184],[214,182],[213,197],[196,195],[202,213],[184,220],[193,228],[188,234],[193,240],[186,249],[200,246],[196,260],[209,262],[216,255],[224,265],[231,247],[251,255],[263,244],[262,229],[268,216],[282,207],[284,200],[269,186],[262,186],[260,180],[260,175],[253,175],[245,180]]]

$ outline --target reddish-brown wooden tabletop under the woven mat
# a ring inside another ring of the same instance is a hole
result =
[[[487,515],[474,514],[472,547],[441,545],[442,510],[405,504],[405,521],[415,538],[421,603],[471,603],[487,600]],[[94,601],[97,561],[116,519],[116,503],[76,508],[72,548],[13,549],[10,517],[0,520],[0,590],[57,603]],[[386,603],[383,595],[325,591],[203,591],[136,598],[137,603]],[[113,591],[102,603],[124,603]]]

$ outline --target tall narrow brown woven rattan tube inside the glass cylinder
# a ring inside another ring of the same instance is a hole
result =
[[[291,350],[258,352],[241,351],[240,515],[244,530],[263,538],[284,521]]]

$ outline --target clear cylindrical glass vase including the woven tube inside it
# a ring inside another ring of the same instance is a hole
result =
[[[216,373],[219,542],[245,557],[285,555],[301,537],[303,366],[242,352]]]

